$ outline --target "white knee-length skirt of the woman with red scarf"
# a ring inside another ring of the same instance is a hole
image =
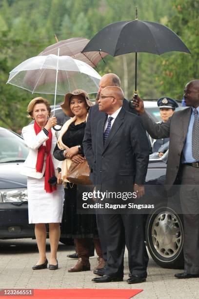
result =
[[[58,223],[63,213],[64,190],[57,185],[57,191],[44,190],[44,177],[28,177],[28,218],[29,223]]]

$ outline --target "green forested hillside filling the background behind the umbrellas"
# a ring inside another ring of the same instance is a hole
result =
[[[137,4],[139,20],[167,24],[192,52],[162,57],[139,53],[139,93],[144,98],[181,96],[184,83],[198,74],[198,3],[199,0],[0,0],[0,125],[15,130],[26,125],[27,103],[38,96],[6,85],[10,70],[56,43],[54,34],[59,40],[91,39],[112,22],[134,20]],[[135,84],[135,54],[115,58],[107,55],[105,61],[106,64],[98,64],[99,73],[117,73],[126,98],[130,98]],[[47,96],[51,103],[53,97]],[[61,100],[62,97],[58,101]]]

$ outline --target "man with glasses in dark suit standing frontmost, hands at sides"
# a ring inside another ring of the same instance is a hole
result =
[[[100,191],[121,186],[144,194],[149,145],[141,119],[122,107],[123,91],[118,86],[105,87],[100,92],[99,110],[106,114],[97,125],[93,184]],[[126,190],[127,191],[127,190]],[[108,200],[106,198],[106,200]],[[128,283],[146,280],[146,248],[143,214],[102,214],[107,241],[105,275],[95,282],[123,280],[125,242],[131,273]]]

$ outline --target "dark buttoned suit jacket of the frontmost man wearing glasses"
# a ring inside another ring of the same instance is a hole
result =
[[[103,115],[96,130],[94,185],[125,183],[132,186],[134,182],[142,185],[147,172],[149,145],[140,117],[121,108],[104,144],[106,120],[107,116]]]

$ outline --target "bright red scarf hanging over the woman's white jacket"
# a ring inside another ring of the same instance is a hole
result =
[[[34,129],[36,135],[41,131],[40,126],[38,123],[35,121],[34,123]],[[36,171],[41,172],[43,170],[43,163],[44,163],[44,156],[45,153],[47,154],[46,156],[46,167],[45,167],[45,184],[44,184],[44,189],[47,193],[52,193],[53,191],[57,190],[56,186],[51,186],[48,183],[48,180],[50,177],[55,175],[55,170],[54,170],[54,165],[53,165],[53,160],[51,157],[51,145],[52,145],[52,132],[51,130],[48,133],[48,140],[46,141],[46,146],[44,147],[43,145],[40,146],[38,149],[38,156],[37,156],[37,164],[36,164]]]

